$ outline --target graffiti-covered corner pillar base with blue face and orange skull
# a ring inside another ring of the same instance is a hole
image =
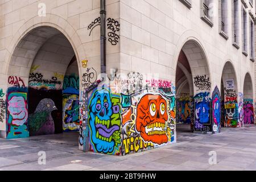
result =
[[[110,88],[90,94],[90,151],[127,155],[176,142],[174,85],[140,73],[118,77],[118,82],[119,94]]]

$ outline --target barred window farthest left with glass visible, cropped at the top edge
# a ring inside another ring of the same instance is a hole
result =
[[[213,0],[200,0],[201,19],[210,27],[213,27]]]

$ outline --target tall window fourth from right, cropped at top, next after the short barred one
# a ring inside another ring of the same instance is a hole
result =
[[[220,35],[228,40],[228,1],[219,0]]]

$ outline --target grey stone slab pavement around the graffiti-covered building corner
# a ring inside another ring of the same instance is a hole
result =
[[[178,127],[176,144],[126,156],[79,151],[77,133],[0,139],[0,170],[256,170],[255,125],[215,135],[187,131]],[[46,165],[38,164],[39,151],[46,151]]]

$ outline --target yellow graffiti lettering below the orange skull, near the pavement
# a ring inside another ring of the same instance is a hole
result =
[[[130,137],[123,139],[123,146],[125,147],[125,154],[129,154],[131,151],[138,152],[139,150],[143,150],[147,147],[154,147],[151,142],[144,142],[141,137]]]

